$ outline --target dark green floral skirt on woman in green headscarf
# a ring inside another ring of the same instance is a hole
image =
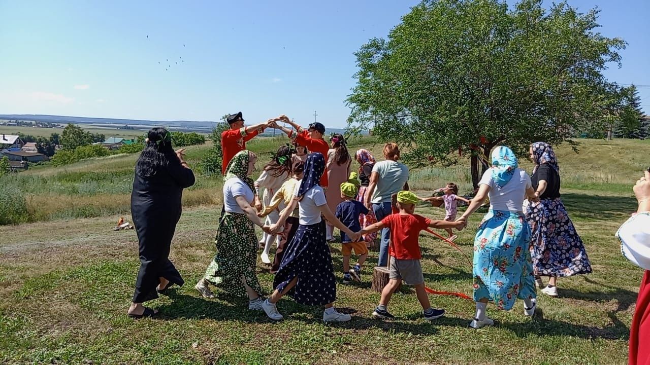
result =
[[[226,212],[214,238],[216,255],[205,271],[205,279],[233,296],[246,296],[246,284],[257,294],[263,294],[255,264],[257,238],[253,222],[245,214]]]

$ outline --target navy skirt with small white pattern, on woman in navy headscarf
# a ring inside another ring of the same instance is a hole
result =
[[[287,294],[296,303],[326,305],[335,301],[336,280],[325,240],[325,221],[298,227],[285,248],[273,288],[282,292],[294,277],[298,282]]]

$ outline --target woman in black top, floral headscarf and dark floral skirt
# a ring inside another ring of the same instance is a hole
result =
[[[560,167],[552,147],[545,142],[530,145],[532,187],[538,204],[528,206],[526,220],[532,231],[532,262],[535,282],[543,287],[541,276],[549,284],[541,290],[548,296],[558,296],[557,278],[591,272],[591,264],[560,199]]]

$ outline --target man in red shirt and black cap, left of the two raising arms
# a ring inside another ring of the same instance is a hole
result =
[[[246,149],[246,142],[252,140],[253,137],[264,131],[265,127],[268,125],[267,121],[266,123],[244,127],[242,112],[230,114],[226,120],[230,125],[230,129],[221,133],[221,149],[223,155],[221,165],[222,175],[226,173],[226,168],[230,160],[232,160],[239,151],[244,151],[244,149]]]

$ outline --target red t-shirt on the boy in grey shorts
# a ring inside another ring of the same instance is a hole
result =
[[[382,223],[391,229],[389,255],[398,260],[419,260],[422,258],[417,238],[420,231],[431,224],[431,220],[417,214],[391,214]]]

